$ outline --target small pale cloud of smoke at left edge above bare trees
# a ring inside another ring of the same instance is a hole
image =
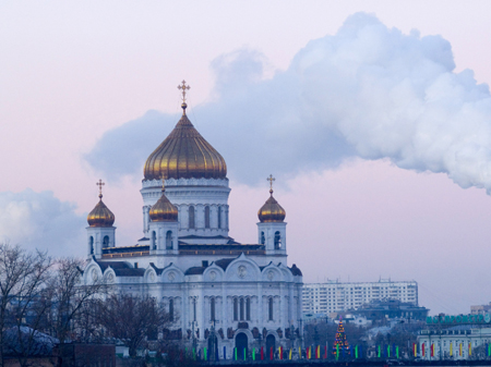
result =
[[[0,241],[58,256],[85,255],[85,216],[52,192],[0,193]]]

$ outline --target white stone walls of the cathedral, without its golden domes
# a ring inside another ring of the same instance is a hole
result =
[[[229,192],[226,179],[166,180],[179,220],[152,222],[148,211],[161,195],[161,182],[143,181],[144,237],[120,247],[115,228],[88,228],[89,237],[112,235],[108,246],[87,252],[84,281],[105,279],[120,292],[156,297],[173,315],[165,333],[189,347],[209,346],[215,337],[219,354],[226,346],[228,357],[236,346],[298,346],[302,274],[287,265],[286,223],[258,223],[263,243],[237,243],[228,235]]]

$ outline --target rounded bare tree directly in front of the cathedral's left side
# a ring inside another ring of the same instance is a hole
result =
[[[148,296],[112,294],[99,302],[97,315],[98,323],[110,337],[124,341],[132,357],[136,356],[148,332],[170,323],[168,313]]]

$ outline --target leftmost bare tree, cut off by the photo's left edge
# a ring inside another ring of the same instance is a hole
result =
[[[0,244],[0,363],[5,351],[4,331],[15,328],[14,351],[22,366],[26,365],[38,327],[49,308],[46,284],[52,260],[46,253],[27,253],[19,245]],[[28,328],[21,329],[22,326]]]

